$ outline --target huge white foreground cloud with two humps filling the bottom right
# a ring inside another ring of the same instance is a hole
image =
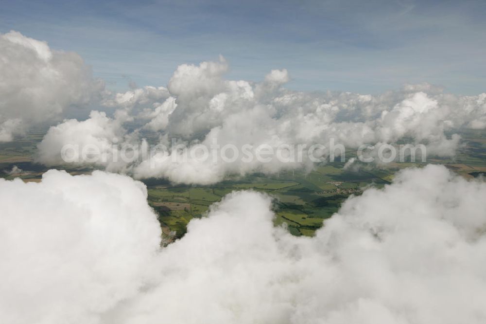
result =
[[[312,238],[274,228],[270,198],[230,194],[161,252],[157,288],[114,323],[482,323],[485,194],[444,167],[406,170]]]

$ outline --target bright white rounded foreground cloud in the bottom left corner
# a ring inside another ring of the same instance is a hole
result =
[[[146,198],[142,183],[104,172],[0,179],[1,322],[101,323],[138,294],[161,234]]]

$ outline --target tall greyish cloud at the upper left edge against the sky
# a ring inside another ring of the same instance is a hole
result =
[[[0,142],[58,120],[72,106],[101,100],[104,83],[83,59],[18,32],[0,34]]]

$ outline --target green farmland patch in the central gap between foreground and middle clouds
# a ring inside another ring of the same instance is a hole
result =
[[[367,185],[388,183],[381,179],[382,174],[383,171],[377,175],[347,172],[342,163],[332,163],[310,173],[294,170],[271,176],[233,176],[210,186],[170,186],[163,180],[157,184],[154,179],[146,184],[149,203],[157,211],[160,223],[174,231],[175,237],[184,235],[185,224],[193,217],[203,217],[212,203],[234,190],[248,189],[274,198],[276,225],[285,223],[295,235],[313,235],[350,195],[360,195]]]

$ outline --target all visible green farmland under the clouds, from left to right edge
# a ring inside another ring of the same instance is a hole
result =
[[[39,181],[49,168],[34,161],[36,144],[42,132],[16,142],[0,143],[0,177]],[[486,131],[460,132],[463,146],[452,159],[429,158],[429,163],[445,164],[466,178],[486,174]],[[356,151],[346,152],[347,159]],[[274,199],[275,225],[286,226],[294,235],[312,236],[325,219],[336,213],[344,200],[361,195],[368,186],[382,187],[403,168],[425,163],[389,163],[386,166],[362,165],[359,170],[344,169],[344,162],[316,166],[312,171],[290,170],[273,175],[230,175],[214,185],[173,185],[163,179],[147,179],[148,202],[158,215],[166,242],[186,233],[192,218],[204,217],[210,205],[235,190],[255,190]],[[91,168],[64,168],[71,174],[90,173]]]

